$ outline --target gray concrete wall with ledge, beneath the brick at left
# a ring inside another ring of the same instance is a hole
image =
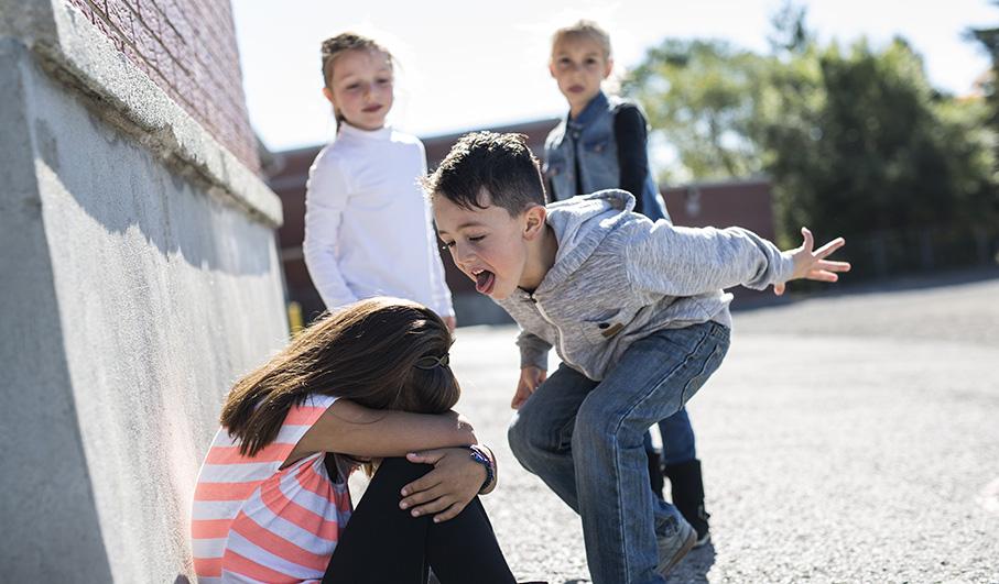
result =
[[[280,202],[59,0],[0,0],[0,581],[194,581],[222,397],[286,339]]]

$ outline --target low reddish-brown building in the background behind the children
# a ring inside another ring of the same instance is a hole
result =
[[[558,123],[546,119],[495,128],[469,129],[493,132],[519,132],[528,136],[528,145],[535,154],[544,152],[544,139]],[[426,146],[427,167],[433,169],[447,155],[450,147],[466,132],[423,137]],[[269,165],[268,183],[284,205],[284,225],[279,230],[281,263],[284,269],[290,301],[301,305],[305,320],[322,313],[324,306],[308,277],[302,255],[305,236],[305,183],[308,167],[322,150],[321,146],[280,152]],[[662,190],[673,221],[689,227],[740,225],[772,240],[774,236],[773,208],[770,183],[765,179],[747,179],[725,183],[703,183]],[[475,291],[475,284],[463,275],[442,251],[447,284],[454,294],[458,326],[495,324],[512,322],[507,313],[489,298]],[[739,289],[737,296],[752,297],[753,290]]]

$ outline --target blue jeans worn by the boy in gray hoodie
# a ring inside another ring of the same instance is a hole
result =
[[[594,584],[664,582],[655,539],[678,537],[683,517],[653,496],[642,437],[697,393],[728,344],[716,322],[659,331],[602,382],[563,364],[514,414],[510,448],[582,517]]]

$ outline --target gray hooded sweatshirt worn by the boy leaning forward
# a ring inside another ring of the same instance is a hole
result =
[[[547,206],[555,264],[534,293],[498,304],[513,317],[521,367],[562,361],[600,381],[634,341],[714,320],[731,327],[736,285],[786,282],[791,254],[741,228],[683,228],[631,212],[634,198],[601,190]]]

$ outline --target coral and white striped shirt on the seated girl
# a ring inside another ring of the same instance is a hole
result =
[[[192,508],[194,571],[202,584],[319,582],[352,506],[330,481],[324,454],[279,466],[336,401],[313,394],[256,456],[219,429],[198,474]],[[334,477],[336,480],[336,477]]]

